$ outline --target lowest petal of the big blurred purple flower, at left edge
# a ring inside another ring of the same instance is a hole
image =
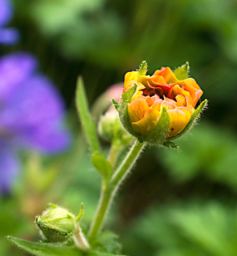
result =
[[[16,152],[0,144],[0,192],[8,193],[20,169]]]

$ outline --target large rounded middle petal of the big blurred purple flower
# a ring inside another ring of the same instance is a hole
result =
[[[64,104],[56,88],[44,76],[29,77],[16,86],[0,113],[0,124],[8,129],[25,131],[48,126],[64,114]]]

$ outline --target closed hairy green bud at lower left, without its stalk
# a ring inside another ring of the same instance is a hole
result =
[[[76,229],[76,217],[68,210],[50,204],[42,216],[37,216],[35,222],[41,235],[48,242],[67,242],[72,238]]]

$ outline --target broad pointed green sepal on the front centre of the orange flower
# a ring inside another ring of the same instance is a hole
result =
[[[143,137],[143,140],[154,146],[156,144],[163,144],[165,137],[167,137],[168,134],[169,122],[169,114],[167,113],[167,110],[163,108],[163,112],[155,128],[149,132],[147,136]]]

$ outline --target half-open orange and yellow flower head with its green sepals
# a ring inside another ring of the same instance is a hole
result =
[[[193,78],[188,78],[188,69],[188,63],[174,72],[162,67],[149,76],[145,75],[147,64],[143,61],[139,71],[126,73],[122,102],[117,109],[124,127],[140,142],[172,141],[188,130],[205,108],[207,101],[195,109],[203,92]]]

